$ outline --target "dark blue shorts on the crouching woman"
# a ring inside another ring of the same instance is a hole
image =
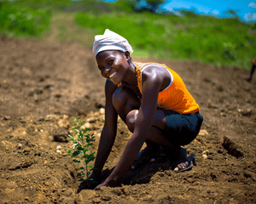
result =
[[[203,116],[199,112],[180,114],[171,110],[164,110],[166,127],[163,131],[165,138],[174,146],[186,145],[198,135]]]

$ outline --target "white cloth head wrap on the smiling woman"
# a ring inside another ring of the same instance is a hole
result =
[[[128,51],[130,54],[133,52],[131,45],[125,37],[121,37],[119,34],[109,31],[108,29],[105,30],[103,35],[97,35],[95,37],[92,53],[96,57],[96,54],[104,50]]]

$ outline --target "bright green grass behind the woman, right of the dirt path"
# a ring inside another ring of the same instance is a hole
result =
[[[152,57],[250,67],[255,54],[253,24],[242,23],[236,18],[80,12],[75,20],[95,35],[103,34],[106,28],[119,33],[131,43],[135,55],[136,51],[144,51]]]

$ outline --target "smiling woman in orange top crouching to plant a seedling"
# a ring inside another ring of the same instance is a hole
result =
[[[148,161],[159,146],[172,158],[172,169],[192,167],[192,157],[181,145],[189,144],[200,131],[203,117],[199,105],[189,94],[182,79],[166,65],[137,63],[131,59],[132,48],[124,37],[108,29],[96,36],[93,54],[105,77],[105,124],[90,178],[98,181],[116,137],[118,116],[132,133],[119,163],[102,186],[115,186],[131,167]],[[140,153],[143,143],[147,147]],[[135,162],[134,162],[135,161]],[[81,184],[81,188],[83,185]]]

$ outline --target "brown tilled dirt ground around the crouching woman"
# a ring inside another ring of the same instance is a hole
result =
[[[129,170],[116,188],[82,190],[67,156],[74,117],[96,136],[104,122],[104,79],[91,48],[0,36],[0,203],[256,203],[256,77],[198,62],[165,63],[201,106],[201,133],[189,145],[195,167],[174,173],[166,156]],[[119,121],[103,168],[108,177],[131,133]],[[60,153],[62,152],[62,154]]]

